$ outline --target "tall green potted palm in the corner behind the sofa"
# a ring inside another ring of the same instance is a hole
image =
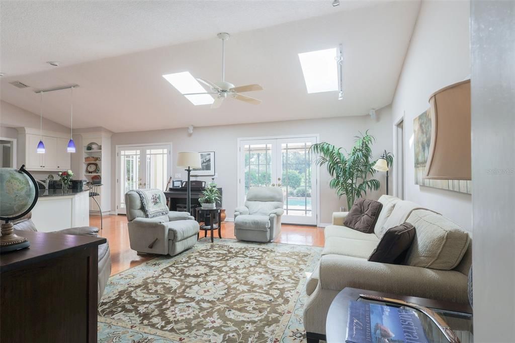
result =
[[[379,180],[373,179],[375,174],[372,159],[372,144],[374,136],[368,130],[354,137],[354,146],[350,152],[341,151],[327,142],[311,146],[311,150],[318,155],[315,164],[325,165],[332,179],[329,186],[336,190],[339,197],[346,196],[348,209],[352,207],[355,199],[362,197],[369,191],[377,191],[381,186]],[[388,166],[393,163],[393,155],[385,155]]]

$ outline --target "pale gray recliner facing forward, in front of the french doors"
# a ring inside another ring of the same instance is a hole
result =
[[[252,187],[245,206],[234,210],[234,235],[240,241],[270,242],[281,232],[284,196],[278,187]]]

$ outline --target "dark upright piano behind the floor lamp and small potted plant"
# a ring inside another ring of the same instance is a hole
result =
[[[202,197],[202,192],[205,189],[205,181],[192,180],[191,184],[191,206],[190,213],[196,217],[195,209],[200,207],[198,199]],[[218,188],[220,191],[220,201],[216,202],[217,207],[222,207],[222,188]],[[186,210],[186,192],[187,192],[187,181],[183,181],[180,187],[170,187],[168,191],[164,192],[166,199],[168,199],[168,208],[170,211],[187,211]],[[179,206],[178,206],[179,205]],[[203,220],[202,220],[203,221]]]

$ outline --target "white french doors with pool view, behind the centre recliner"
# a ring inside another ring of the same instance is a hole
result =
[[[317,169],[310,148],[317,140],[316,136],[239,140],[239,204],[245,203],[250,187],[280,187],[282,222],[316,225]]]

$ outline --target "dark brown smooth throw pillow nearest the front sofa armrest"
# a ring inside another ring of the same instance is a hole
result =
[[[415,238],[415,227],[409,222],[388,229],[368,261],[402,264],[406,258],[406,251]]]

